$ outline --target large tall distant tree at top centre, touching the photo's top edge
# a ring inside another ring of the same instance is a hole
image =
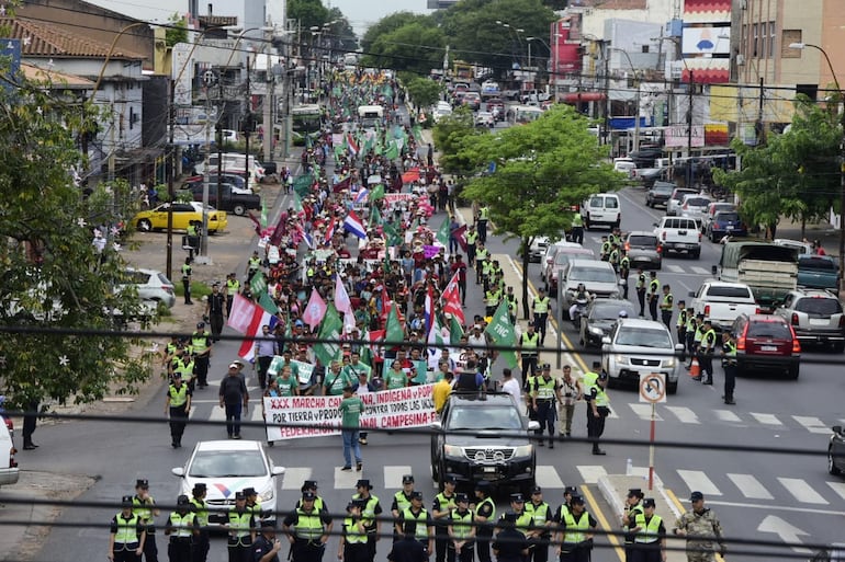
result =
[[[442,28],[454,59],[476,62],[502,74],[514,62],[527,62],[526,37],[549,37],[554,20],[554,12],[540,0],[463,0],[442,14]],[[540,42],[534,42],[531,49],[532,55],[548,56]]]

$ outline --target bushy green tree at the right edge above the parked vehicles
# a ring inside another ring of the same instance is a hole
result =
[[[837,157],[842,130],[836,114],[805,98],[796,102],[792,125],[781,135],[769,134],[763,147],[734,139],[742,170],[717,170],[713,179],[742,200],[743,217],[763,225],[774,239],[780,217],[801,222],[826,216],[840,190]]]

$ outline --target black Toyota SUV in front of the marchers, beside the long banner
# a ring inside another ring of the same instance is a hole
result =
[[[506,392],[454,392],[431,427],[431,473],[453,474],[460,484],[486,480],[528,493],[537,457],[528,432],[539,428]],[[442,485],[442,484],[441,484]]]

